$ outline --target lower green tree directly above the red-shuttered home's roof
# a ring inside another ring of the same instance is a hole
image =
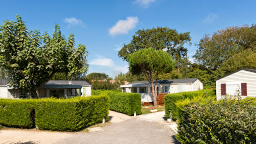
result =
[[[225,73],[230,73],[240,68],[256,69],[256,51],[246,49],[229,57],[220,67]]]

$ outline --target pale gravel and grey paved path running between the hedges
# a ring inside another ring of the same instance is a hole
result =
[[[127,116],[109,110],[111,123],[97,127],[100,129],[95,130],[97,132],[3,129],[0,130],[0,143],[178,143],[175,133],[158,114],[162,116],[158,112]]]

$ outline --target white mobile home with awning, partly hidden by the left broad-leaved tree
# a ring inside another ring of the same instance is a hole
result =
[[[85,80],[49,80],[39,90],[40,97],[68,98],[91,95],[91,85]],[[8,84],[8,79],[0,79],[0,98],[35,98],[35,93],[22,91]]]

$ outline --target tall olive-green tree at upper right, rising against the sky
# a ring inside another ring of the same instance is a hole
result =
[[[256,48],[256,25],[232,26],[205,34],[196,45],[196,62],[216,70],[240,50]]]

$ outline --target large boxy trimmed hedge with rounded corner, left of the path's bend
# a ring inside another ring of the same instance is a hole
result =
[[[76,131],[108,119],[108,96],[94,95],[69,99],[43,99],[35,112],[40,129]]]

